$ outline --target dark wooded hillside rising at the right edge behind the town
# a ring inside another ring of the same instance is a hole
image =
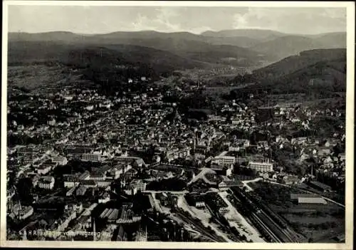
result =
[[[333,98],[335,92],[346,90],[345,55],[345,49],[303,51],[300,56],[284,58],[252,74],[236,75],[233,81],[256,83],[255,89],[270,88],[275,94],[305,93],[315,98]],[[253,90],[249,92],[256,94]],[[235,90],[225,98],[247,99],[248,95]]]

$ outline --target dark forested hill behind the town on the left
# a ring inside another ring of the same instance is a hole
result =
[[[201,63],[154,48],[122,44],[58,43],[43,41],[14,41],[9,43],[9,65],[67,66],[100,86],[100,92],[112,94],[120,90],[128,78],[145,76],[147,80],[159,80],[177,69],[196,68]],[[33,53],[33,51],[39,52]],[[179,73],[174,73],[179,75]]]

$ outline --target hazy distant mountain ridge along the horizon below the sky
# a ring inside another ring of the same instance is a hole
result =
[[[85,35],[67,31],[9,33],[9,43],[14,41],[58,41],[90,45],[127,44],[178,53],[179,56],[188,58],[192,56],[190,58],[192,60],[198,60],[200,56],[208,63],[226,64],[221,59],[236,58],[230,63],[237,66],[258,66],[261,65],[261,61],[278,61],[310,49],[345,48],[346,33],[290,35],[260,29],[205,31],[200,35],[189,32],[158,31],[117,31]],[[229,51],[226,51],[226,48],[229,48]]]

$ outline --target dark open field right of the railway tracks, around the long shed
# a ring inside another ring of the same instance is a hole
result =
[[[311,196],[320,199],[320,195],[271,182],[251,182],[248,185],[253,189],[251,194],[261,204],[282,217],[305,237],[305,241],[330,242],[333,237],[345,234],[344,208],[328,200],[324,200],[324,204],[303,204],[293,198]]]

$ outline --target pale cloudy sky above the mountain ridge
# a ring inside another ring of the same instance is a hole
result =
[[[182,6],[9,6],[9,32],[110,33],[271,29],[313,34],[346,31],[345,8]]]

